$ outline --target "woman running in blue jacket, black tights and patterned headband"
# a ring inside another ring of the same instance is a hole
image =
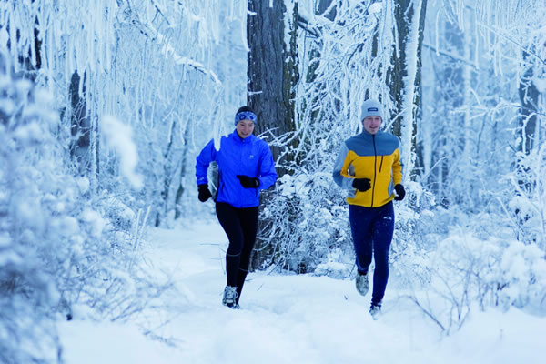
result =
[[[201,202],[212,197],[208,189],[208,166],[213,161],[218,166],[216,212],[229,240],[227,286],[222,304],[229,308],[238,308],[247,278],[258,230],[259,190],[268,189],[277,180],[268,144],[252,134],[257,121],[250,107],[240,107],[235,116],[236,130],[221,138],[219,150],[214,147],[213,139],[197,157],[196,177]]]

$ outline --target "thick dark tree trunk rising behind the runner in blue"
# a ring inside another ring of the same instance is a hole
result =
[[[295,138],[295,89],[298,81],[297,16],[294,5],[289,45],[285,44],[284,1],[248,0],[248,106],[258,116],[256,133],[264,137],[273,152],[278,177],[293,171]],[[270,197],[262,194],[262,205]],[[258,241],[251,268],[260,268],[270,257],[271,248],[260,239],[268,236],[267,221],[260,220]]]

